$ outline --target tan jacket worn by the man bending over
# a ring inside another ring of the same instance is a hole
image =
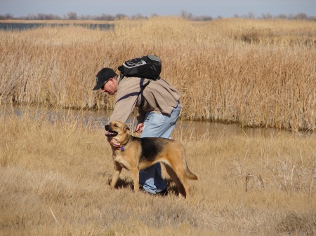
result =
[[[118,78],[119,79],[119,78]],[[138,123],[143,123],[145,113],[154,111],[170,115],[178,105],[181,93],[164,79],[150,81],[149,85],[140,92],[140,88],[147,83],[146,78],[124,77],[118,81],[115,104],[110,122],[119,120],[126,123],[134,107],[138,107]],[[143,106],[140,106],[143,103]]]

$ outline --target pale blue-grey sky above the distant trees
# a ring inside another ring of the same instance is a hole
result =
[[[53,14],[60,17],[74,12],[77,15],[208,15],[224,18],[253,13],[316,16],[316,0],[0,0],[0,15],[18,18],[28,14]]]

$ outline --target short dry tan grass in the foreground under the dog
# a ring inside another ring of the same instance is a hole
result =
[[[6,114],[4,114],[6,113]],[[133,193],[124,170],[110,190],[110,146],[84,111],[0,116],[0,235],[315,235],[313,137],[221,133],[176,127],[199,177],[192,195]]]

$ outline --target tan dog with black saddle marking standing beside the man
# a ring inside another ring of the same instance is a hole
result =
[[[131,170],[133,173],[134,190],[139,190],[140,169],[145,169],[157,162],[163,162],[166,172],[173,182],[176,183],[178,192],[183,197],[190,194],[187,179],[197,179],[197,176],[187,168],[185,149],[180,142],[165,138],[138,138],[127,133],[129,127],[119,121],[112,121],[105,125],[107,137],[116,139],[122,148],[112,146],[114,172],[110,186],[117,184],[122,168]]]

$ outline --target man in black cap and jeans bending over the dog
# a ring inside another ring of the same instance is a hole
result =
[[[119,76],[110,68],[101,69],[96,76],[96,86],[108,95],[115,95],[115,104],[109,122],[119,120],[126,123],[134,107],[138,107],[136,132],[140,137],[170,138],[171,132],[180,115],[180,92],[159,78],[150,81],[147,78]],[[107,141],[114,147],[121,145],[111,137]],[[148,193],[166,195],[166,183],[162,179],[160,163],[143,169],[139,173],[140,186]]]

